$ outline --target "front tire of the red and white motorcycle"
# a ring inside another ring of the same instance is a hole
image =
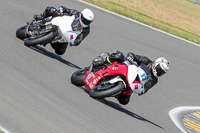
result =
[[[99,86],[96,86],[90,91],[90,96],[94,99],[102,99],[105,97],[110,97],[115,94],[120,93],[125,89],[124,83],[123,82],[117,82],[115,83],[112,87],[107,88],[107,89],[99,89]]]

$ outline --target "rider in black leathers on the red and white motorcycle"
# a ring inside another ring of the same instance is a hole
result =
[[[137,63],[138,65],[140,65],[143,63],[149,68],[151,72],[151,77],[144,85],[142,84],[134,85],[135,89],[144,88],[144,91],[138,94],[139,96],[145,94],[150,88],[152,88],[155,84],[157,84],[158,77],[161,77],[169,70],[169,62],[164,57],[160,57],[152,61],[146,56],[136,55],[132,52],[129,52],[125,57],[123,53],[120,51],[114,51],[110,55],[109,53],[105,53],[104,56],[98,56],[93,60],[93,66],[99,67],[104,64],[109,64],[115,61],[117,61],[118,63],[123,63],[126,60],[128,60],[131,64]],[[117,100],[119,101],[120,104],[126,105],[129,103],[130,97],[131,95],[120,96],[117,97]]]

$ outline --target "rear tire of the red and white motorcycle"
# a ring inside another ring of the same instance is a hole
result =
[[[84,78],[85,78],[85,69],[80,69],[74,72],[71,76],[71,83],[76,86],[83,86],[84,85]]]

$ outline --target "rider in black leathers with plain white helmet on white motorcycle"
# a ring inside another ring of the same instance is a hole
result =
[[[79,12],[75,9],[69,9],[65,6],[60,6],[58,9],[48,6],[42,14],[35,15],[34,18],[36,20],[43,20],[44,18],[62,16],[63,14],[68,16],[75,15],[72,27],[76,27],[76,31],[79,30],[81,33],[77,36],[73,43],[70,43],[70,46],[78,46],[81,41],[90,33],[90,24],[94,20],[94,13],[90,9],[85,8],[82,12]],[[51,44],[52,48],[55,50],[55,53],[59,55],[63,55],[65,53],[67,45],[67,43]]]

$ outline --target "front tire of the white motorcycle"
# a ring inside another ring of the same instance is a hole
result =
[[[43,44],[51,42],[55,38],[53,32],[49,32],[43,36],[32,36],[24,40],[24,45],[26,46],[35,46],[37,44]]]

